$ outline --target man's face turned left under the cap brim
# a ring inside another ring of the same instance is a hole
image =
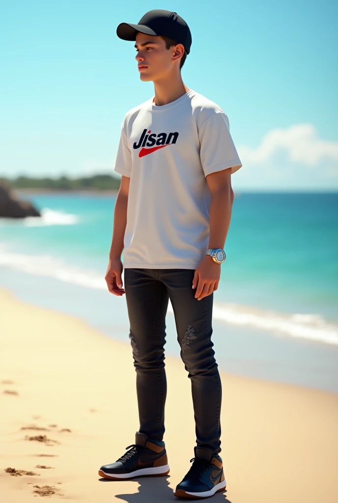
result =
[[[172,71],[176,49],[175,46],[166,49],[161,37],[138,32],[135,48],[138,71],[144,82],[161,79]]]

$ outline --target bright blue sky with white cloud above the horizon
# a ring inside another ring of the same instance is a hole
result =
[[[192,32],[185,84],[229,118],[233,188],[338,189],[336,2],[0,4],[0,176],[113,174],[124,114],[153,96],[116,28],[166,9]]]

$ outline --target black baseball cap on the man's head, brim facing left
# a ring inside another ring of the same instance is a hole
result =
[[[137,32],[171,38],[182,44],[187,54],[190,52],[192,40],[189,26],[176,12],[155,9],[144,14],[137,25],[120,23],[116,30],[117,36],[123,40],[136,40]]]

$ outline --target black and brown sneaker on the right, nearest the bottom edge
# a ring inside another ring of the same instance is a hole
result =
[[[222,458],[211,449],[195,447],[195,457],[190,470],[176,487],[175,496],[181,498],[208,498],[224,491],[226,480]]]

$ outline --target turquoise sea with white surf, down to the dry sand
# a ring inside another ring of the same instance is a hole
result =
[[[0,219],[0,287],[129,342],[125,296],[104,280],[116,196],[21,197],[42,216]],[[220,368],[338,392],[337,230],[337,193],[235,194],[214,293]],[[179,356],[171,304],[166,340]]]

